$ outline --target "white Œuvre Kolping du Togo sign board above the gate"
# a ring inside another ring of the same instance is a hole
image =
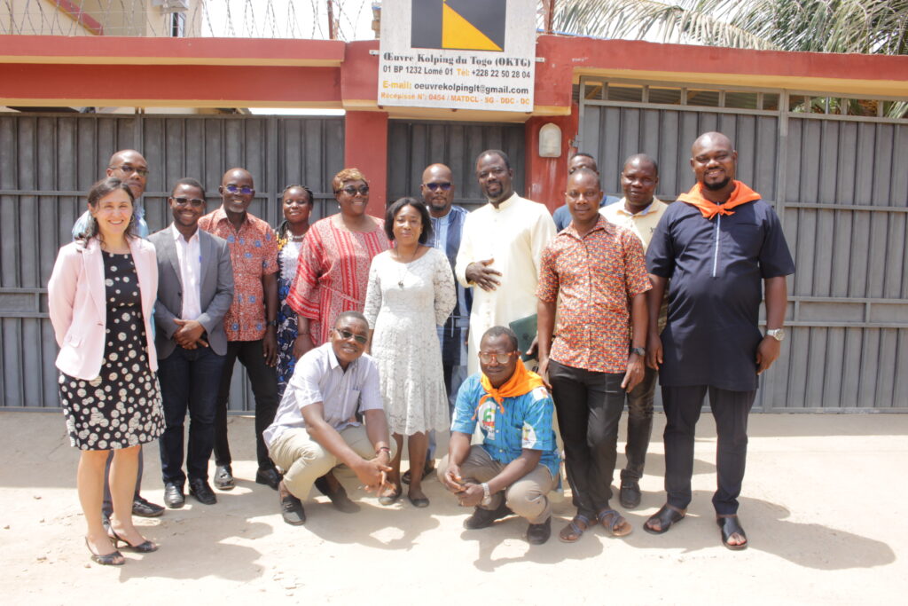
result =
[[[529,112],[536,0],[383,0],[380,105]]]

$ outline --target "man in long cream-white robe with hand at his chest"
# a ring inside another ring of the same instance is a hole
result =
[[[467,215],[454,268],[461,284],[479,286],[469,316],[469,374],[479,371],[479,338],[489,328],[536,313],[539,260],[556,233],[543,204],[514,193],[507,154],[479,154],[476,176],[489,204]]]

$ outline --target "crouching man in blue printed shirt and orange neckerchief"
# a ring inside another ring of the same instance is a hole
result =
[[[486,528],[516,513],[529,522],[527,541],[551,534],[548,492],[558,483],[555,406],[542,379],[520,360],[517,335],[493,326],[479,342],[480,373],[460,386],[449,453],[439,481],[463,507],[476,507],[464,527]],[[476,430],[482,443],[470,446]]]

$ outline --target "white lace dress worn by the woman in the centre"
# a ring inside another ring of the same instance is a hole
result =
[[[457,303],[448,258],[430,248],[412,263],[390,251],[376,255],[369,270],[363,313],[372,336],[372,356],[390,432],[412,435],[449,428],[448,395],[436,326]]]

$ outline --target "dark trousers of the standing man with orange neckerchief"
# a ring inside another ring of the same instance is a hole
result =
[[[667,502],[679,509],[690,503],[690,479],[694,473],[696,422],[706,393],[716,419],[716,484],[713,507],[719,515],[737,513],[747,458],[747,416],[756,392],[730,392],[708,385],[662,387],[666,411]]]

